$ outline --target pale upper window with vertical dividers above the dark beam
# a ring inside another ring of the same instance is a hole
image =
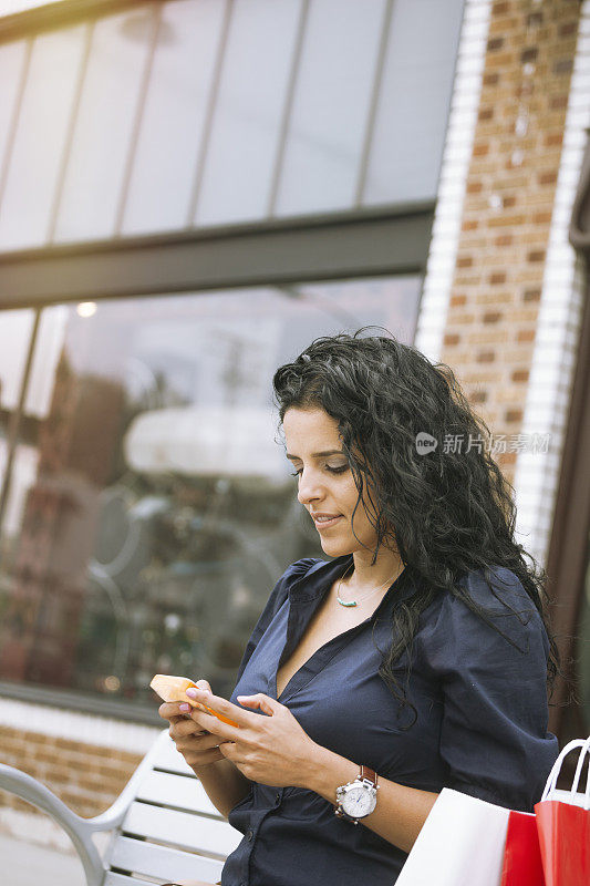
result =
[[[1,45],[0,250],[434,200],[463,7],[167,0]]]

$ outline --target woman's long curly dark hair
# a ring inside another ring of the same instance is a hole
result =
[[[387,336],[362,337],[372,328]],[[460,575],[483,569],[489,585],[493,565],[507,567],[518,577],[541,616],[550,647],[550,694],[558,673],[568,682],[546,611],[546,604],[552,602],[545,589],[547,574],[514,539],[514,487],[491,457],[489,429],[473,411],[453,370],[446,363],[432,363],[383,327],[362,327],[353,336],[341,332],[314,339],[292,363],[279,367],[272,384],[279,432],[291,406],[323,409],[338,421],[359,491],[353,521],[365,480],[375,493],[376,502],[368,490],[375,519],[369,511],[368,518],[376,530],[372,564],[381,544],[392,539],[404,565],[424,579],[416,583],[412,597],[395,608],[392,643],[385,652],[381,650],[379,673],[402,707],[408,701],[393,664],[407,650],[407,684],[420,616],[437,594],[454,594],[516,646],[458,584]],[[426,457],[416,451],[421,432],[441,444]],[[482,443],[453,452],[442,445],[446,434]],[[498,576],[495,578],[497,581]],[[489,587],[498,600],[520,615]]]

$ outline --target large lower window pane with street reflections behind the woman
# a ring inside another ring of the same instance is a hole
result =
[[[156,672],[229,692],[281,571],[322,556],[275,439],[272,374],[364,323],[410,340],[420,285],[60,306],[50,410],[28,416],[0,538],[0,679],[151,709]]]

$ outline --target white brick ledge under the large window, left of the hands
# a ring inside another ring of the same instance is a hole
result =
[[[143,756],[167,722],[163,720],[162,729],[158,729],[45,704],[0,699],[0,724]]]

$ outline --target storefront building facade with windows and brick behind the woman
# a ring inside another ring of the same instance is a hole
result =
[[[2,759],[92,815],[153,673],[230,691],[322,556],[272,371],[365,324],[488,424],[588,734],[590,2],[64,0],[0,18],[0,82]]]

